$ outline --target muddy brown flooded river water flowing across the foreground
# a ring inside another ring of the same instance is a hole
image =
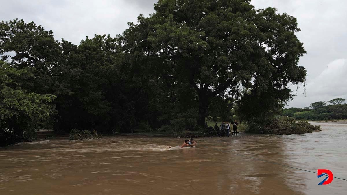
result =
[[[0,195],[347,194],[347,125],[305,135],[49,139],[0,148]],[[168,146],[174,148],[170,149]],[[240,156],[242,154],[245,156]],[[252,157],[247,158],[246,156]]]

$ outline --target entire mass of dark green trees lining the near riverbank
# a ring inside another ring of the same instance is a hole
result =
[[[34,22],[0,23],[0,145],[41,128],[201,131],[222,117],[264,125],[305,81],[296,18],[249,0],[159,0],[116,37],[79,45]]]

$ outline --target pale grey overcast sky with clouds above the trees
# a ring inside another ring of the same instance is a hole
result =
[[[139,14],[154,12],[156,0],[0,0],[0,20],[24,19],[52,30],[57,40],[78,44],[86,36],[115,36],[136,22]],[[297,96],[287,107],[308,107],[315,101],[347,99],[347,1],[253,0],[256,8],[276,7],[297,18],[307,54],[299,65],[306,67],[303,85],[291,86]]]

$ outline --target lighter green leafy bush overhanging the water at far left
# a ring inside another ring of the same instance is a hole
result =
[[[0,61],[0,146],[35,139],[52,125],[55,96],[27,93],[15,82],[20,78],[20,71]]]

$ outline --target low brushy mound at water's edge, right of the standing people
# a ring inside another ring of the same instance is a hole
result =
[[[307,121],[296,122],[291,117],[275,117],[265,124],[252,122],[248,125],[247,133],[264,133],[277,135],[305,134],[320,130],[319,125],[310,125]]]

